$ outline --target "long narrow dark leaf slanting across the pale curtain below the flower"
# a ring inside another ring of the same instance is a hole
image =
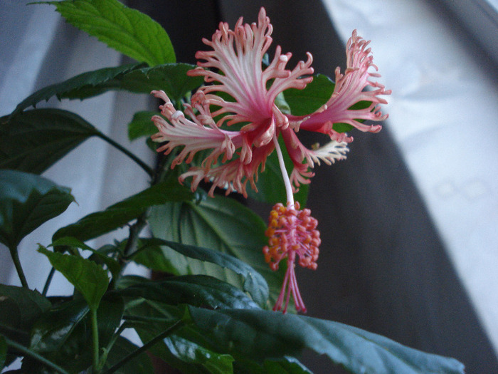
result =
[[[100,237],[136,219],[149,207],[165,202],[189,200],[192,196],[189,189],[179,185],[176,180],[166,180],[111,205],[102,212],[89,214],[74,224],[58,229],[53,235],[53,240],[75,237],[86,241]]]

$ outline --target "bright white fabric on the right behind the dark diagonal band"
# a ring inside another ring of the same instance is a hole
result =
[[[498,350],[498,89],[425,1],[324,0],[344,41],[371,39],[387,126]],[[494,77],[493,77],[494,78]]]

